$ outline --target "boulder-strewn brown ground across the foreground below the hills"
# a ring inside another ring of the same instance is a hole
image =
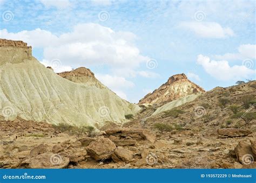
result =
[[[256,132],[250,130],[159,133],[110,123],[89,137],[21,119],[0,124],[1,168],[256,167]]]

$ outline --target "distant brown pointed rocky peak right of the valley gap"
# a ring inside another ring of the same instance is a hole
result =
[[[205,90],[188,80],[185,74],[176,74],[171,76],[158,89],[154,90],[153,93],[147,94],[142,98],[139,104],[164,104],[186,95],[203,92]]]

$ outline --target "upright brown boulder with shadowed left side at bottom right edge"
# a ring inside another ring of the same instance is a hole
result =
[[[250,143],[246,141],[240,141],[235,147],[235,154],[237,155],[237,160],[242,165],[250,165],[256,160],[256,155],[252,151]]]

